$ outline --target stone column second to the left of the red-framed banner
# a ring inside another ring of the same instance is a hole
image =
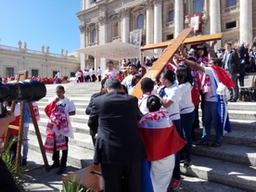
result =
[[[162,42],[162,0],[154,1],[154,44]],[[160,49],[154,50],[158,56],[161,54]]]

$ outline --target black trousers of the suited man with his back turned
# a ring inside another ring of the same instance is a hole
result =
[[[142,161],[126,163],[102,163],[104,192],[141,192]]]

